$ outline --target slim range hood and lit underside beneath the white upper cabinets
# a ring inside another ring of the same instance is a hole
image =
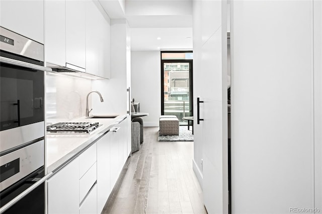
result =
[[[86,79],[105,79],[100,76],[96,76],[86,72],[85,68],[78,67],[69,63],[66,63],[66,66],[59,66],[52,63],[47,62],[46,66],[52,69],[52,72],[60,73],[66,76],[73,77],[82,77]]]

